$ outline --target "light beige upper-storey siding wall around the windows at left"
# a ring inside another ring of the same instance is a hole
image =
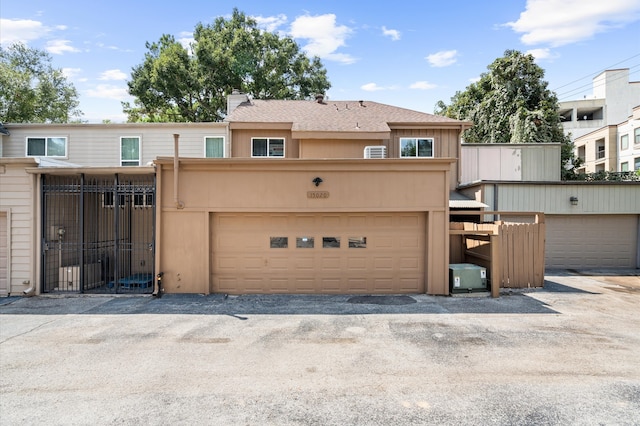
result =
[[[180,135],[180,156],[203,158],[204,138],[223,136],[225,123],[129,123],[129,124],[17,124],[6,125],[4,156],[24,157],[28,137],[61,136],[67,138],[67,157],[63,160],[82,166],[120,165],[120,138],[140,138],[141,165],[156,157],[173,156],[173,134]]]

